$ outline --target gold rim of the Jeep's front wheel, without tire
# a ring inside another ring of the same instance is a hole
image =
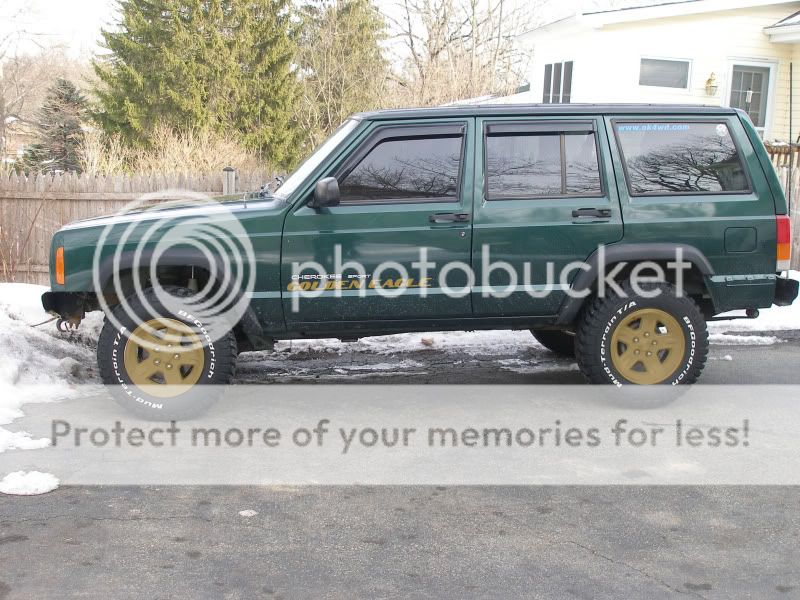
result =
[[[203,341],[185,323],[151,319],[128,338],[123,364],[134,385],[151,396],[174,398],[199,381],[205,366]]]

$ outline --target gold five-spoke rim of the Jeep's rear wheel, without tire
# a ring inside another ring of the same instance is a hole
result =
[[[614,368],[631,383],[662,383],[683,363],[686,338],[675,317],[658,308],[641,308],[617,325],[610,352]]]

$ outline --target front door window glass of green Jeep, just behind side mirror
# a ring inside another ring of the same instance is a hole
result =
[[[443,135],[378,142],[341,179],[341,203],[455,202],[462,139],[461,135]]]

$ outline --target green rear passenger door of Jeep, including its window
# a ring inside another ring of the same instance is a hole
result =
[[[477,130],[474,312],[553,315],[578,273],[565,268],[622,238],[604,123],[482,118]]]

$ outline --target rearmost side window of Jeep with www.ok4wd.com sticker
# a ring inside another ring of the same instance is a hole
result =
[[[741,155],[723,122],[614,125],[633,196],[749,192]]]

